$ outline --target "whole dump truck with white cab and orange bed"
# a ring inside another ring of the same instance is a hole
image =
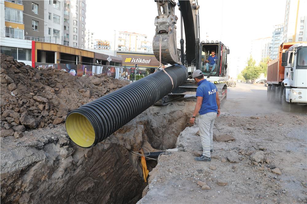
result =
[[[267,83],[267,99],[281,102],[283,111],[307,105],[307,42],[280,45],[278,58],[268,63]]]

